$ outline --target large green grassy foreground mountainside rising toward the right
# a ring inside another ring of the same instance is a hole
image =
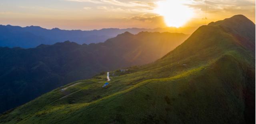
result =
[[[110,72],[106,89],[106,73],[70,83],[4,113],[0,123],[255,123],[255,55],[243,42],[232,29],[202,26],[152,64]]]

